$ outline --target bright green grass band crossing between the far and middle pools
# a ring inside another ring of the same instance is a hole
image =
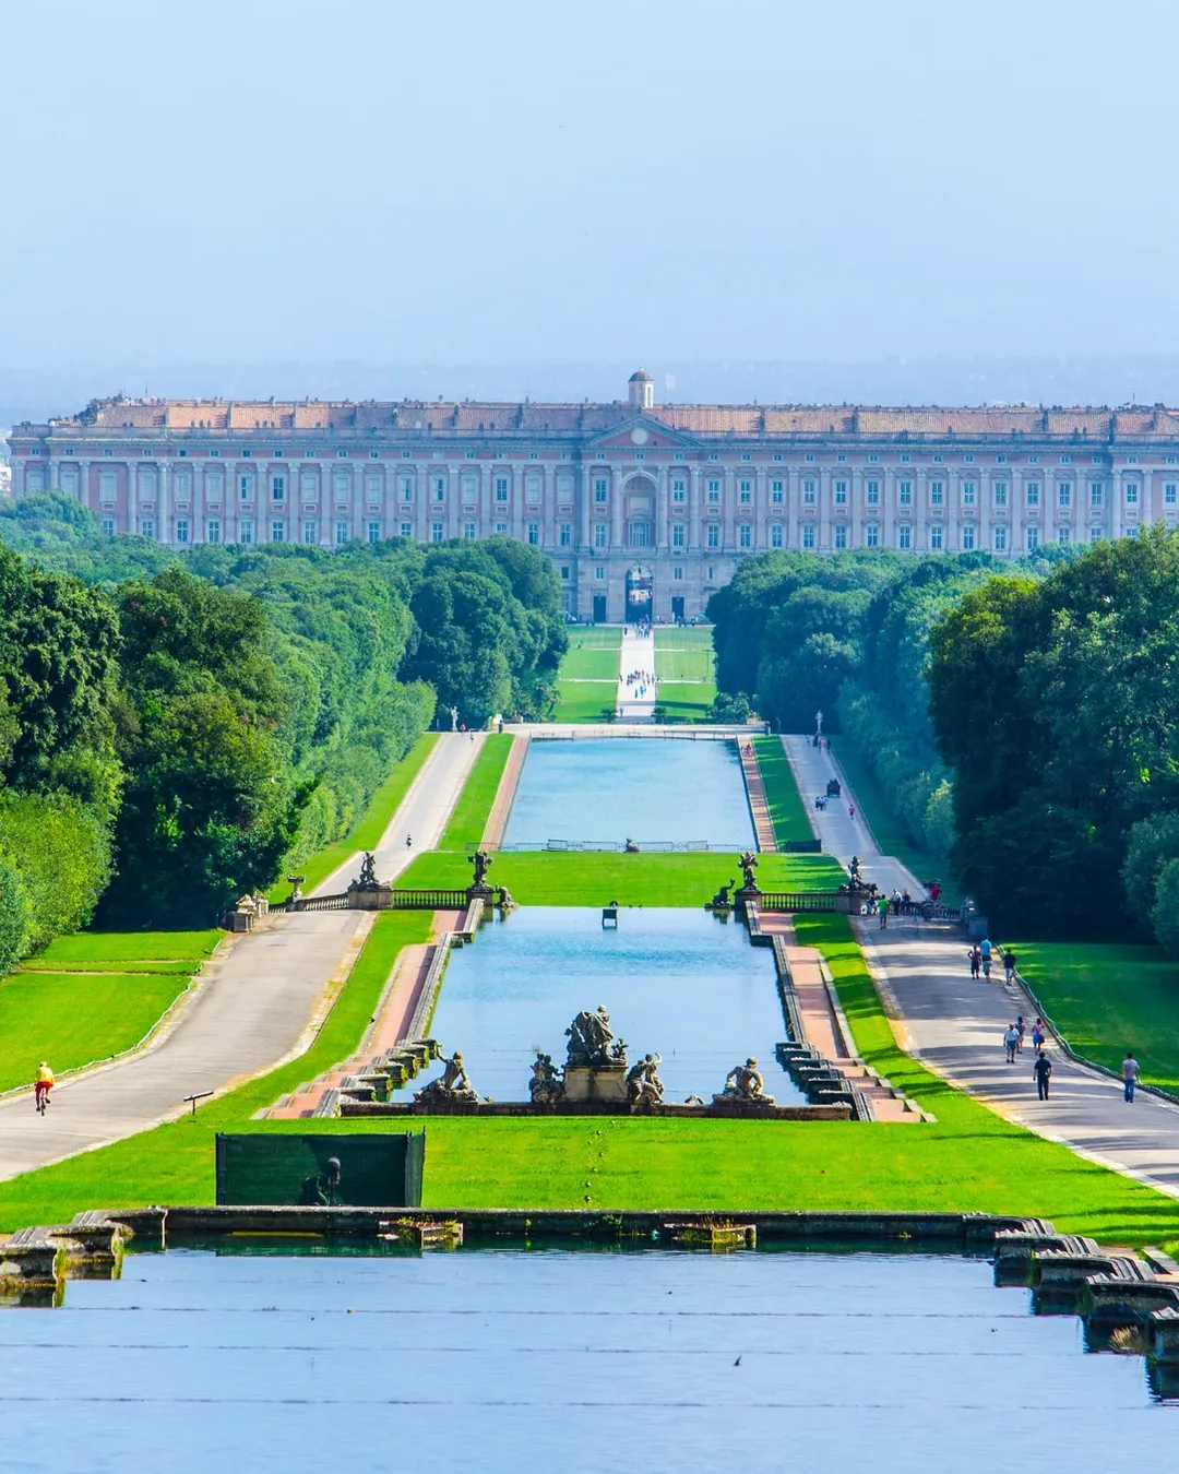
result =
[[[735,855],[582,855],[500,853],[491,870],[494,886],[507,886],[525,907],[703,907],[719,886],[737,877]],[[830,855],[762,855],[762,890],[834,890],[847,877]],[[419,855],[399,887],[451,889],[470,883],[464,855]]]

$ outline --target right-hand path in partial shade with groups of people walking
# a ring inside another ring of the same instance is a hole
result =
[[[825,749],[809,746],[805,737],[783,743],[824,849],[844,865],[858,853],[867,879],[887,890],[908,886],[923,895],[900,861],[880,853],[859,805],[855,820],[849,818],[855,796],[846,787],[842,805],[814,809],[815,794],[825,792],[836,772]],[[853,927],[903,1049],[1008,1120],[1179,1197],[1179,1106],[1142,1091],[1127,1106],[1116,1080],[1070,1060],[1051,1035],[1051,1097],[1038,1100],[1030,1044],[1015,1064],[1005,1063],[1002,1047],[1004,1030],[1018,1014],[1030,1033],[1036,1008],[1018,983],[1004,983],[998,961],[989,982],[976,982],[965,936],[954,927],[914,917],[890,918],[884,930],[868,920]]]

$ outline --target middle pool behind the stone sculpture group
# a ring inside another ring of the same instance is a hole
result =
[[[603,929],[600,911],[563,907],[486,923],[473,946],[451,954],[430,1033],[447,1052],[463,1051],[482,1095],[528,1100],[536,1051],[563,1064],[573,1016],[600,1004],[631,1063],[663,1055],[669,1101],[710,1100],[752,1054],[780,1104],[805,1103],[774,1058],[787,1027],[772,952],[703,909],[623,908],[618,930]]]

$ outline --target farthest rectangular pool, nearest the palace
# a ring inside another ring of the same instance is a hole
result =
[[[750,849],[741,762],[734,743],[601,737],[529,744],[504,845],[707,845]]]

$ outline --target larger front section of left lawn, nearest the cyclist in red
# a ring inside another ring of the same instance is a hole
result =
[[[0,1091],[31,1085],[41,1060],[63,1075],[133,1049],[187,986],[187,971],[0,979]]]

